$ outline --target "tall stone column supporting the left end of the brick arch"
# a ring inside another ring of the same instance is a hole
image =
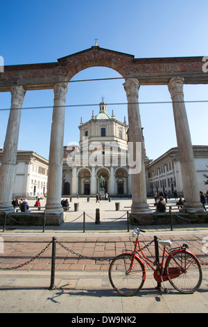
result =
[[[54,86],[53,118],[49,153],[49,175],[46,199],[46,214],[62,214],[62,159],[64,139],[64,114],[68,83]]]

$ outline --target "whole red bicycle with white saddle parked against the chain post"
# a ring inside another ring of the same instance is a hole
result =
[[[133,251],[125,250],[125,253],[115,257],[110,264],[110,283],[116,292],[123,296],[133,296],[139,292],[146,280],[144,262],[153,269],[157,283],[164,286],[164,281],[168,280],[181,293],[196,292],[202,282],[202,269],[197,257],[187,250],[189,248],[187,244],[167,250],[166,246],[171,247],[171,241],[157,239],[158,244],[163,246],[162,261],[159,263],[159,253],[155,255],[157,258],[155,261],[148,259],[143,253],[144,248],[153,243],[155,239],[141,248],[140,232],[145,231],[137,228],[133,233],[136,236],[135,249]],[[166,260],[165,255],[168,255]],[[164,287],[164,290],[168,293],[168,289]]]

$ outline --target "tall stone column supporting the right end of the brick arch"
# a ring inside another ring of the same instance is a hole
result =
[[[123,84],[128,99],[128,143],[133,144],[133,160],[136,159],[136,143],[142,145],[141,119],[139,113],[139,81],[137,79],[127,79]],[[132,214],[153,214],[146,201],[146,175],[144,166],[143,151],[141,151],[139,161],[141,160],[138,173],[131,173],[132,184]]]

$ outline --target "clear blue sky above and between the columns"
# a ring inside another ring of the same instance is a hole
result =
[[[0,56],[5,65],[49,63],[95,45],[132,54],[135,58],[207,56],[207,1],[124,0],[1,0]],[[121,77],[105,67],[92,67],[73,77],[80,79]],[[79,141],[78,125],[98,113],[101,97],[107,112],[128,118],[123,79],[69,83],[64,145]],[[207,100],[208,86],[184,86],[184,99]],[[167,86],[141,86],[139,102],[171,101]],[[33,150],[49,157],[53,90],[28,91],[22,110],[19,150]],[[207,145],[208,103],[186,104],[193,145]],[[10,108],[10,93],[0,93],[0,109]],[[177,146],[171,104],[140,104],[146,154],[156,159]],[[0,147],[6,135],[9,111],[0,111]]]

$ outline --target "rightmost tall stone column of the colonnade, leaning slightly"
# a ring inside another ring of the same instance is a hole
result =
[[[177,149],[182,173],[182,186],[185,199],[183,210],[189,213],[197,213],[203,212],[203,209],[200,203],[191,134],[184,104],[183,82],[183,78],[174,77],[169,81],[168,89],[173,101]]]

